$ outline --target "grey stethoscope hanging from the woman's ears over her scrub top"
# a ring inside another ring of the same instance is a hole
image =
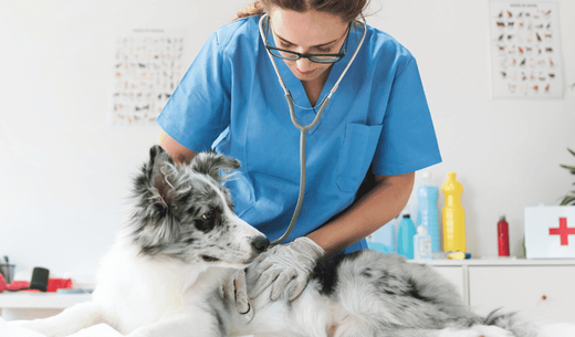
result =
[[[260,23],[259,23],[259,25],[260,25],[260,35],[261,35],[264,44],[266,43],[268,39],[265,38],[265,33],[263,32],[263,21],[266,18],[268,18],[268,14],[266,13],[263,14],[261,17]],[[339,82],[342,82],[342,78],[344,77],[345,73],[347,72],[347,70],[349,69],[352,63],[354,62],[354,59],[357,55],[357,52],[359,51],[359,48],[364,43],[364,39],[365,39],[365,34],[366,34],[367,29],[365,27],[365,23],[363,23],[363,22],[358,22],[358,23],[362,24],[363,28],[364,28],[364,32],[362,34],[362,40],[359,40],[359,44],[355,49],[355,52],[352,55],[352,59],[349,60],[349,62],[345,66],[344,71],[339,75],[339,78],[337,78],[337,82],[335,82],[335,84],[332,87],[332,89],[330,91],[330,93],[322,99],[322,103],[320,105],[320,109],[317,110],[317,113],[315,115],[315,118],[309,125],[301,125],[297,122],[297,118],[295,118],[295,110],[293,108],[294,102],[293,102],[293,98],[292,98],[292,94],[290,93],[290,91],[285,86],[285,83],[283,82],[283,78],[280,75],[280,71],[278,71],[278,65],[275,64],[273,55],[270,53],[270,51],[268,51],[268,56],[270,56],[270,61],[272,62],[273,69],[275,70],[275,74],[278,74],[278,80],[280,81],[280,85],[282,86],[283,92],[285,93],[284,96],[285,96],[285,101],[288,102],[288,106],[290,107],[290,117],[292,119],[292,123],[300,130],[300,193],[297,194],[297,203],[295,206],[295,211],[293,212],[292,220],[290,221],[290,225],[288,225],[288,229],[285,230],[283,235],[280,236],[280,239],[272,241],[271,245],[275,245],[275,244],[281,243],[282,241],[284,241],[290,235],[290,233],[292,232],[292,230],[293,230],[293,228],[295,225],[295,222],[297,221],[297,217],[300,217],[300,211],[302,209],[303,197],[304,197],[304,191],[305,191],[305,135],[307,134],[307,131],[310,129],[312,129],[317,124],[317,122],[320,122],[320,117],[322,117],[323,110],[327,106],[327,103],[330,103],[330,101],[332,98],[332,95],[337,89],[337,86],[339,85]]]

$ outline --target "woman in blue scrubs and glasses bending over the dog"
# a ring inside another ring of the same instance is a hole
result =
[[[227,182],[234,210],[275,240],[297,201],[300,130],[266,46],[303,125],[357,50],[306,134],[303,207],[288,240],[260,259],[252,297],[272,286],[272,299],[293,299],[318,257],[367,248],[364,238],[405,208],[415,171],[441,161],[416,61],[385,32],[355,22],[363,20],[366,1],[255,2],[210,35],[157,119],[159,145],[176,161],[210,148],[241,161]],[[263,13],[265,39],[259,30]],[[367,193],[356,198],[369,178]]]

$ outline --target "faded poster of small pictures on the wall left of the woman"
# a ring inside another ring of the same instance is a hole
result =
[[[112,125],[155,125],[186,71],[184,32],[135,29],[116,40]]]

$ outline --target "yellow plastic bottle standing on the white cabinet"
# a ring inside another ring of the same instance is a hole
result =
[[[443,218],[443,250],[466,252],[466,212],[461,207],[463,186],[456,180],[456,172],[447,173],[441,186],[446,196],[446,206],[441,212]]]

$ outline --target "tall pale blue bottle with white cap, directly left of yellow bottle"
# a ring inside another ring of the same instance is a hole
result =
[[[439,252],[439,221],[437,211],[438,189],[431,182],[431,175],[424,172],[417,189],[417,225],[425,225],[431,235],[431,251]]]

